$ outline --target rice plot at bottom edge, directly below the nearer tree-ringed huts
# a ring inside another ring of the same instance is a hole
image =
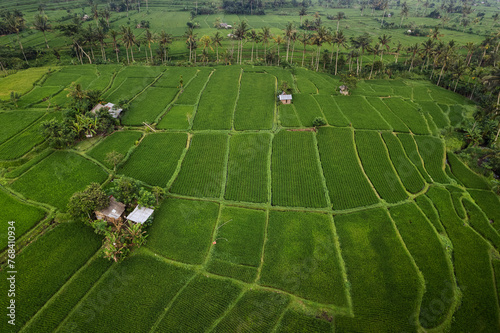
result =
[[[58,332],[149,331],[191,275],[149,255],[129,257],[111,268]]]

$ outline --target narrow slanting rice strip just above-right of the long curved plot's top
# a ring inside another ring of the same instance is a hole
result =
[[[420,192],[425,187],[425,180],[418,169],[406,156],[403,146],[392,133],[382,133],[392,164],[396,169],[399,179],[410,193]]]

